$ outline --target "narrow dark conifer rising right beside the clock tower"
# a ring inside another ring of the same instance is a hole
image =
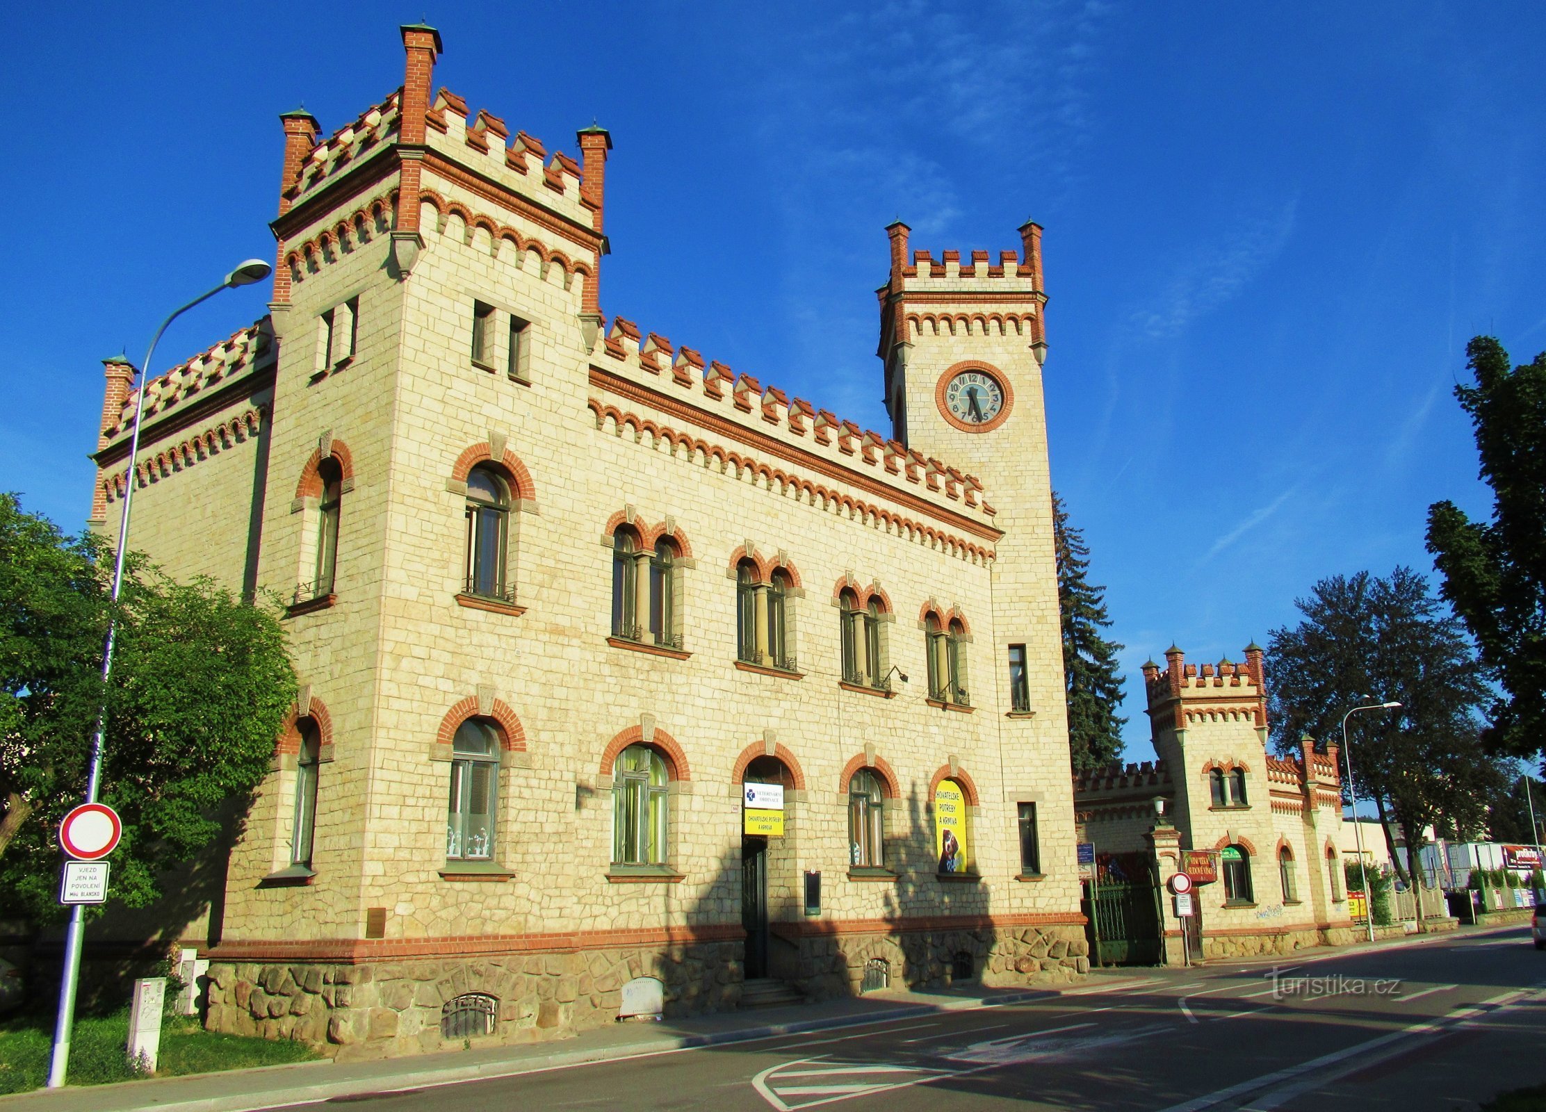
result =
[[[1064,690],[1068,699],[1068,755],[1074,772],[1099,769],[1122,752],[1122,673],[1105,640],[1112,625],[1105,588],[1090,583],[1090,547],[1084,532],[1068,524],[1062,498],[1053,495],[1053,544],[1057,555],[1057,609],[1062,616]]]

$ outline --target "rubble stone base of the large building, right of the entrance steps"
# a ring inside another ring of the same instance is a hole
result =
[[[989,988],[1061,984],[1090,971],[1081,926],[1020,926],[897,934],[805,936],[795,985],[812,999],[858,996],[864,968],[886,962],[892,988],[948,988],[955,956],[972,957],[971,981]]]

